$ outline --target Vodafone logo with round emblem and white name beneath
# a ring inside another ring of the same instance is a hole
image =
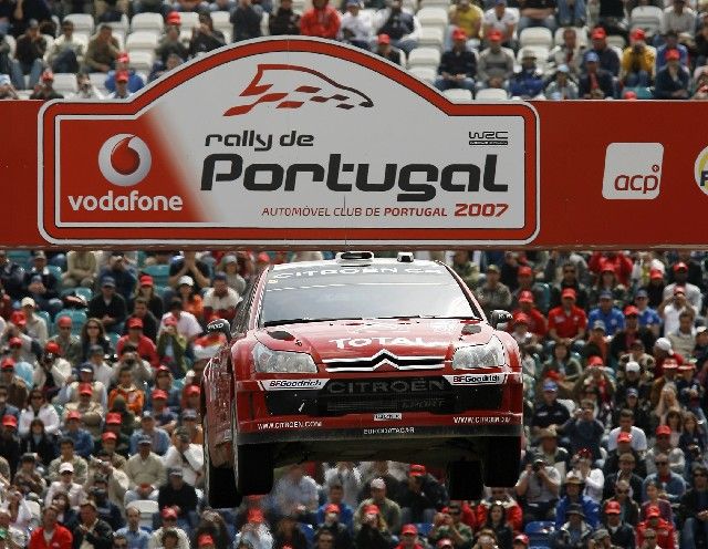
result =
[[[101,175],[116,187],[134,187],[150,172],[153,155],[147,144],[133,134],[108,137],[98,151]],[[105,195],[69,195],[74,211],[181,211],[179,195],[143,195],[137,189],[126,194],[108,190]]]

